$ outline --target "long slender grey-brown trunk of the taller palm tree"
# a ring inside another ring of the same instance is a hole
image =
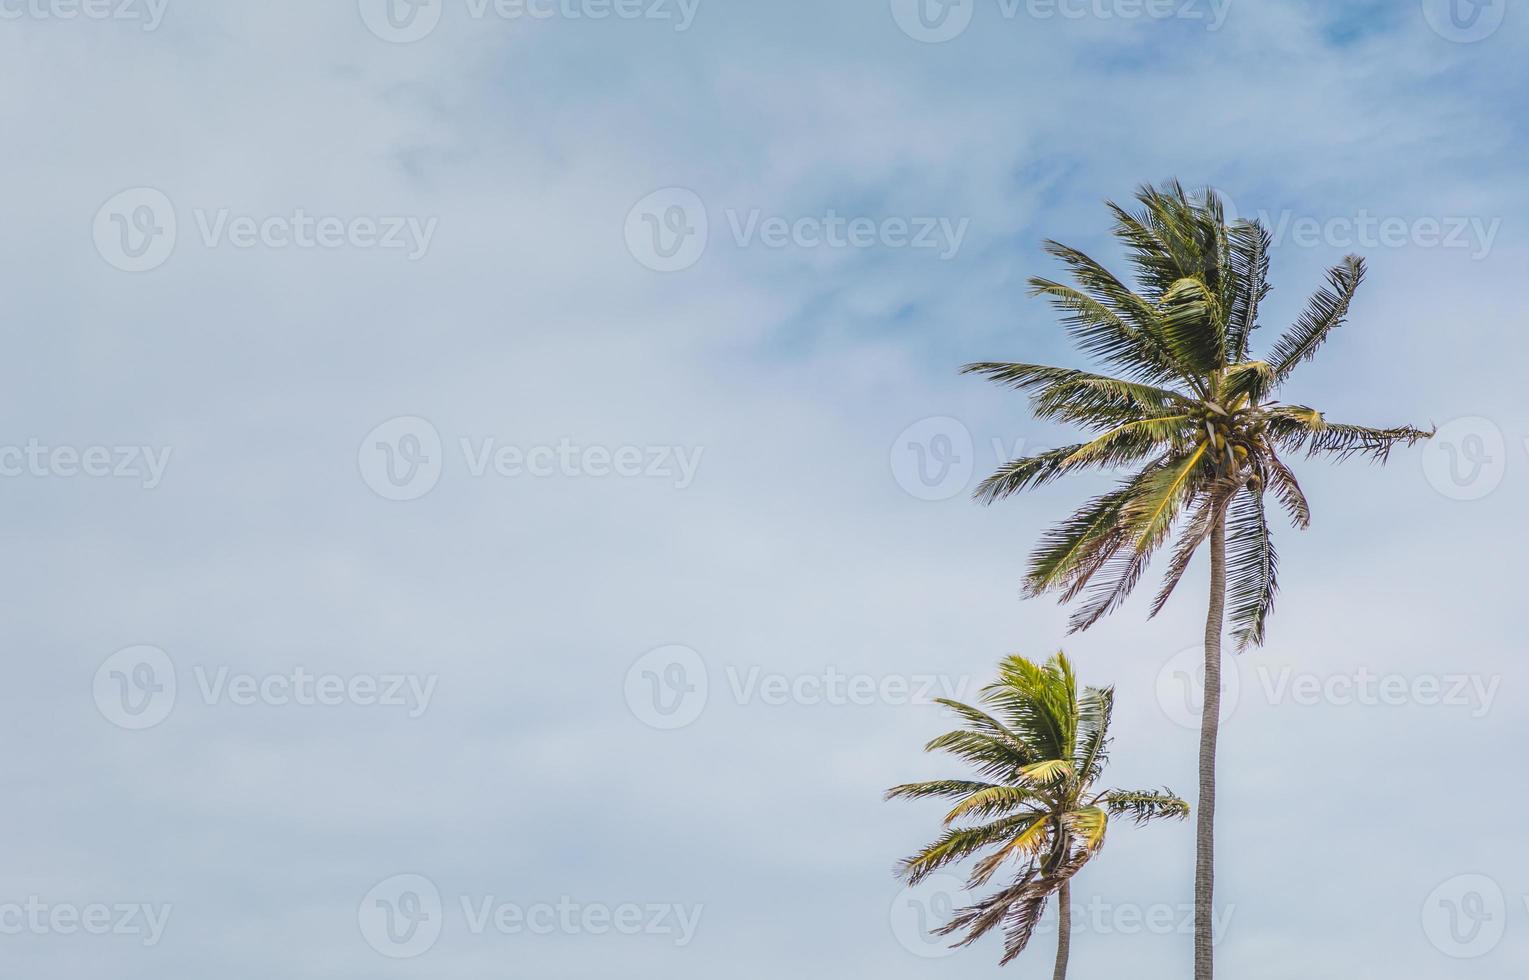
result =
[[[1194,824],[1194,980],[1216,972],[1216,735],[1222,722],[1222,622],[1226,616],[1226,518],[1211,529],[1211,608],[1205,616],[1200,806]]]

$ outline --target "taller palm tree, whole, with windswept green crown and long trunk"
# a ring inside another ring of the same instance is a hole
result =
[[[1327,287],[1263,359],[1249,353],[1258,304],[1269,294],[1268,229],[1228,226],[1214,191],[1191,197],[1173,182],[1138,191],[1139,211],[1110,203],[1115,237],[1135,272],[1127,286],[1083,252],[1047,242],[1075,286],[1034,278],[1061,312],[1078,347],[1112,373],[1037,364],[969,364],[966,373],[1031,394],[1037,417],[1092,430],[1087,442],[1012,460],[977,488],[992,503],[1087,468],[1133,468],[1135,475],[1052,527],[1031,558],[1026,593],[1083,598],[1072,628],[1116,608],[1151,555],[1176,537],[1156,615],[1203,543],[1211,552],[1205,621],[1205,705],[1200,726],[1200,801],[1196,812],[1194,977],[1211,980],[1216,737],[1222,690],[1222,630],[1228,602],[1238,648],[1264,639],[1278,560],[1264,494],[1297,527],[1310,508],[1280,454],[1385,462],[1398,445],[1430,437],[1411,427],[1329,422],[1306,405],[1274,401],[1349,315],[1364,260],[1344,258]]]

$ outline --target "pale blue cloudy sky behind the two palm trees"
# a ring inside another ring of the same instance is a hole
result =
[[[1280,228],[1264,344],[1367,255],[1290,399],[1440,427],[1300,466],[1222,972],[1521,974],[1529,26],[1472,3],[0,5],[5,972],[1049,975],[924,940],[879,797],[950,772],[905,702],[1063,644],[1194,793],[1203,570],[1064,638],[1024,557],[1107,477],[972,505],[1066,434],[957,375],[1078,364],[1040,243],[1179,177]],[[1116,829],[1075,971],[1185,975],[1191,859]]]

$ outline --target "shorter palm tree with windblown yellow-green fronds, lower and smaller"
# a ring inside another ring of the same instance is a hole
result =
[[[982,711],[940,700],[966,726],[930,741],[969,763],[983,781],[934,780],[887,790],[888,800],[956,800],[950,827],[933,844],[898,867],[917,884],[931,873],[988,852],[971,871],[968,888],[985,887],[1012,861],[1014,882],[976,905],[957,910],[940,936],[966,931],[959,946],[974,943],[1005,923],[1003,963],[1031,942],[1052,894],[1058,896],[1057,980],[1067,975],[1072,946],[1070,881],[1099,847],[1112,816],[1138,824],[1162,816],[1185,818],[1190,804],[1168,790],[1096,790],[1110,741],[1113,688],[1078,694],[1072,664],[1058,653],[1046,665],[1012,656],[998,679],[982,690]],[[956,826],[966,821],[969,826]]]

